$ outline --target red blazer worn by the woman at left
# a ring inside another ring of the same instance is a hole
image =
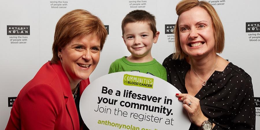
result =
[[[80,96],[90,83],[80,81]],[[5,130],[79,130],[79,116],[61,63],[44,64],[14,101]]]

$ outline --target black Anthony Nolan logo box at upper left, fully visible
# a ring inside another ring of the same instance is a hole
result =
[[[30,35],[30,26],[7,25],[7,35]]]

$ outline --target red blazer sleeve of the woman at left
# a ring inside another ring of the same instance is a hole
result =
[[[63,95],[62,95],[63,96]],[[8,124],[16,125],[25,130],[53,130],[55,119],[59,115],[60,97],[49,84],[38,84],[22,95],[16,105],[18,109],[11,111]],[[17,113],[20,113],[21,126],[17,120]],[[16,115],[15,115],[16,114]],[[15,117],[16,116],[16,117]],[[6,127],[9,129],[11,127]]]

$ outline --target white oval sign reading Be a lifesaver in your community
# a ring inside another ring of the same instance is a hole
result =
[[[90,83],[79,108],[90,130],[187,130],[191,122],[176,93],[153,75],[117,72]]]

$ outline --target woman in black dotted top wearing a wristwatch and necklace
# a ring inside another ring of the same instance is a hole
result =
[[[255,130],[250,75],[217,53],[224,49],[224,29],[206,1],[183,0],[176,6],[175,51],[163,66],[167,80],[181,94],[190,130]]]

